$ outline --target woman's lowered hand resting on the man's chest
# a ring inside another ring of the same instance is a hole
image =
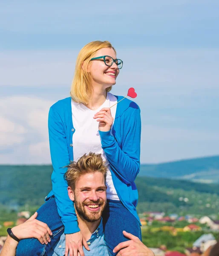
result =
[[[81,231],[73,234],[66,234],[65,239],[65,256],[78,256],[78,252],[81,256],[84,256],[82,243],[86,250],[90,250],[86,240],[83,238],[81,234]]]

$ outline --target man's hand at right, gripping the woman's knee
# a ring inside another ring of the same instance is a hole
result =
[[[117,256],[154,256],[152,250],[147,248],[137,236],[126,231],[123,231],[123,235],[130,240],[121,242],[114,248],[114,253],[119,251]]]

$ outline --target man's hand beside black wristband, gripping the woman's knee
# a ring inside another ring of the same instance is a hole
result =
[[[12,233],[18,239],[36,238],[41,244],[48,244],[51,241],[49,235],[52,236],[52,231],[46,223],[38,221],[36,218],[37,212],[23,224],[12,227]]]

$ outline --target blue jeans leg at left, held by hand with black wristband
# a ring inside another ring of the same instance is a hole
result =
[[[16,256],[46,256],[49,249],[60,239],[64,226],[58,215],[55,198],[51,198],[38,210],[37,220],[46,223],[52,230],[51,241],[41,244],[37,239],[23,239],[18,243]]]

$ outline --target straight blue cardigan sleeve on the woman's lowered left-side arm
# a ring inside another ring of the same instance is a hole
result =
[[[80,231],[78,227],[75,207],[67,191],[67,182],[64,174],[69,165],[69,151],[66,141],[64,124],[60,115],[51,107],[49,110],[49,146],[52,159],[52,191],[58,207],[58,214],[64,225],[64,233],[71,234]]]

